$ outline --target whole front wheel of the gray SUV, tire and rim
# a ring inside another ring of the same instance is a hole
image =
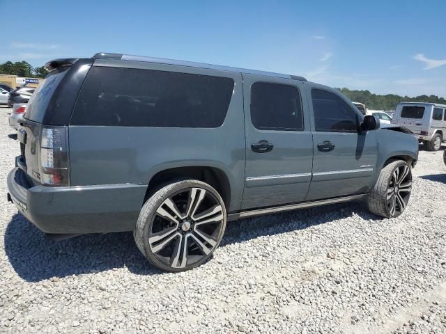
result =
[[[410,166],[406,161],[393,161],[381,170],[369,196],[369,210],[377,216],[397,217],[406,209],[411,191]]]

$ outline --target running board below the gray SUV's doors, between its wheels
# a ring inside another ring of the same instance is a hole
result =
[[[328,200],[314,200],[312,202],[302,202],[302,203],[297,203],[297,204],[282,205],[280,207],[267,207],[265,209],[254,209],[254,210],[249,210],[249,211],[236,212],[235,214],[228,214],[228,218],[226,220],[227,221],[236,221],[237,219],[240,219],[240,218],[261,216],[263,214],[275,214],[277,212],[291,211],[291,210],[296,210],[296,209],[304,209],[306,207],[318,207],[320,205],[350,202],[352,200],[363,200],[364,198],[367,198],[367,196],[369,196],[368,193],[362,193],[360,195],[330,198]]]

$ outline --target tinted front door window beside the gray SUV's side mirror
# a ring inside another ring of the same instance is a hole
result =
[[[357,131],[357,113],[341,97],[312,89],[312,102],[316,131]]]

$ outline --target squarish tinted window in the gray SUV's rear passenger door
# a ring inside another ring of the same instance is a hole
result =
[[[298,88],[255,82],[251,86],[251,120],[261,130],[302,130],[302,104]]]

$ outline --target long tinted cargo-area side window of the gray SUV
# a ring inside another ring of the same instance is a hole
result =
[[[231,78],[93,66],[71,124],[220,127],[233,87]]]

